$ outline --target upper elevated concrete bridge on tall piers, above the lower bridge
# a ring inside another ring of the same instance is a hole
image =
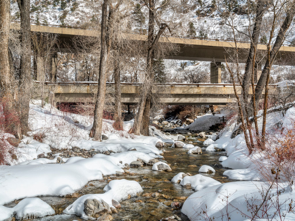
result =
[[[13,24],[14,29],[19,29],[19,24]],[[40,26],[31,25],[32,32],[52,33],[58,35],[59,46],[56,48],[57,52],[71,52],[78,53],[79,49],[73,47],[73,41],[77,37],[98,37],[100,33],[96,30],[86,30],[78,28],[65,28],[53,26]],[[126,34],[126,38],[134,40],[135,44],[146,42],[147,35],[141,34]],[[228,40],[218,39],[190,39],[180,37],[162,37],[160,42],[168,42],[179,46],[180,51],[171,53],[165,59],[176,60],[193,60],[193,61],[209,61],[210,64],[210,83],[221,83],[221,62],[225,59],[229,60],[230,57],[235,55],[235,43]],[[237,42],[239,49],[239,62],[245,63],[250,43]],[[259,78],[261,74],[261,64],[265,60],[266,45],[258,44],[257,47],[257,60],[261,62],[256,65],[256,76]],[[275,65],[295,65],[294,60],[295,47],[283,45],[277,55]],[[53,58],[55,59],[55,58]],[[41,58],[38,60],[42,60]],[[42,62],[39,62],[39,65]],[[38,70],[38,67],[37,67]],[[38,71],[37,71],[38,72]],[[37,74],[38,75],[38,74]],[[38,80],[38,79],[37,79]]]

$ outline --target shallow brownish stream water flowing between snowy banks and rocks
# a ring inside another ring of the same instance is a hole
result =
[[[177,131],[173,131],[176,133]],[[184,131],[181,131],[184,133]],[[172,133],[172,131],[171,131]],[[194,136],[183,134],[184,136]],[[171,164],[172,172],[164,171],[153,171],[151,166],[144,166],[139,168],[130,168],[129,171],[133,172],[134,175],[124,174],[124,176],[118,177],[119,179],[135,180],[140,183],[144,193],[154,193],[159,192],[169,196],[169,199],[163,197],[143,197],[136,196],[130,199],[123,200],[121,203],[121,208],[118,209],[118,213],[112,213],[114,220],[124,220],[124,221],[155,221],[161,218],[171,216],[173,214],[178,215],[181,220],[189,220],[185,215],[180,212],[180,209],[175,209],[171,207],[171,202],[177,200],[184,202],[184,199],[179,199],[179,197],[188,197],[195,191],[189,187],[183,187],[179,183],[171,182],[171,179],[179,172],[190,173],[192,175],[198,174],[198,170],[201,165],[212,166],[216,172],[213,174],[203,174],[204,176],[212,177],[219,182],[229,182],[230,180],[223,177],[223,172],[226,170],[223,168],[218,161],[220,156],[225,156],[224,151],[218,152],[207,152],[203,146],[203,141],[206,138],[188,138],[189,141],[193,141],[195,146],[200,146],[202,148],[203,154],[187,154],[188,149],[183,148],[171,148],[166,146],[159,149],[164,149],[164,158],[168,164]],[[189,167],[188,165],[196,165],[196,167]],[[54,177],[53,177],[54,179]],[[105,180],[102,181],[91,181],[91,186],[87,184],[83,189],[77,191],[79,194],[98,194],[103,193],[103,188],[107,184]],[[92,186],[92,184],[94,186]],[[71,197],[53,197],[44,196],[39,197],[43,201],[47,202],[55,210],[56,215],[47,216],[38,219],[31,219],[34,221],[42,220],[56,220],[56,221],[72,221],[72,220],[82,220],[76,215],[67,215],[63,213],[63,210],[74,202],[77,198]],[[17,202],[19,202],[18,200]],[[6,206],[13,207],[17,202],[12,202]]]

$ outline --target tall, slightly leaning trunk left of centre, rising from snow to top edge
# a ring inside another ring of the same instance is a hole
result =
[[[102,118],[104,111],[104,99],[106,94],[106,62],[108,58],[108,35],[107,35],[107,6],[108,0],[104,0],[102,4],[101,14],[101,52],[100,52],[100,63],[99,63],[99,76],[98,76],[98,88],[97,97],[94,109],[94,121],[90,131],[90,137],[94,140],[101,141],[101,129],[102,129]]]

